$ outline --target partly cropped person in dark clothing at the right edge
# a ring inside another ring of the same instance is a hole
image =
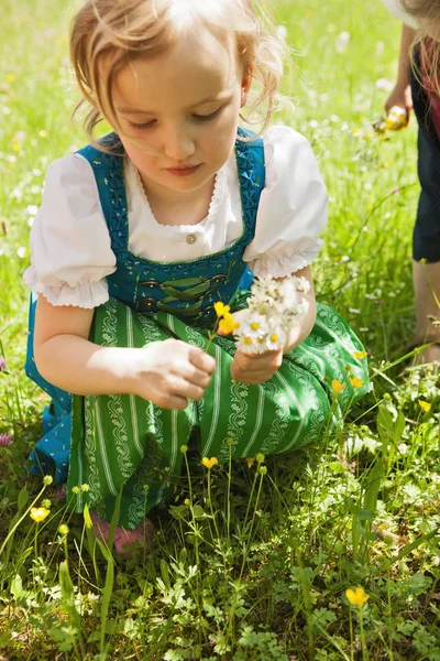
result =
[[[416,329],[413,345],[428,346],[420,359],[440,361],[440,39],[439,0],[384,0],[404,21],[397,83],[385,104],[413,109],[419,123],[418,172],[421,185],[413,238]],[[417,31],[417,28],[419,29]],[[432,37],[432,39],[431,39]],[[418,41],[413,50],[413,44]],[[414,64],[411,67],[411,51]],[[426,263],[425,263],[426,262]]]

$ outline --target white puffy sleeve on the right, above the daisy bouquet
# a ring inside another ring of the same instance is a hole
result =
[[[308,141],[288,127],[263,138],[266,183],[255,236],[243,259],[258,277],[283,278],[308,267],[322,246],[327,191]]]

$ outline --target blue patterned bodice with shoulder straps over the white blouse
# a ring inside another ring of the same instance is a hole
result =
[[[252,136],[239,129],[240,137]],[[213,304],[229,302],[246,271],[245,247],[255,234],[256,212],[264,187],[264,145],[261,138],[235,141],[243,213],[243,234],[229,248],[184,262],[155,262],[129,248],[129,218],[123,173],[123,149],[114,133],[105,139],[113,153],[91,145],[78,153],[90,163],[98,185],[100,203],[117,258],[117,270],[107,277],[109,294],[134,310],[146,313],[168,312],[190,325],[209,326],[215,318]]]

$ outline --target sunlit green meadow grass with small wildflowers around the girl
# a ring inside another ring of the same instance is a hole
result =
[[[29,225],[47,164],[84,138],[65,3],[0,13],[0,433],[13,438],[0,447],[0,659],[439,660],[439,377],[403,362],[417,129],[370,130],[398,24],[378,0],[277,8],[297,52],[282,119],[312,143],[330,194],[318,297],[364,342],[373,391],[338,437],[283,462],[207,470],[189,454],[152,557],[121,560],[24,467],[46,403],[22,370]],[[32,503],[50,516],[34,522]],[[359,586],[362,608],[345,597]]]

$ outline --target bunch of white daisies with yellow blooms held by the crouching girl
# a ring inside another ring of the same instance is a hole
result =
[[[233,323],[229,306],[216,304],[220,328],[233,333],[238,348],[246,354],[263,354],[283,348],[288,332],[298,325],[309,308],[305,299],[310,290],[306,278],[288,275],[283,280],[260,278],[251,286],[252,296],[242,312],[240,323]],[[221,314],[219,314],[221,313]]]

